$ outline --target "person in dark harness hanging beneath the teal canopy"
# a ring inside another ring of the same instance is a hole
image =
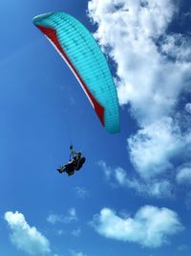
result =
[[[74,171],[79,171],[86,160],[86,158],[82,156],[80,151],[74,151],[73,146],[70,147],[70,150],[71,154],[68,164],[62,165],[57,168],[57,172],[60,174],[66,172],[68,175],[74,175]]]

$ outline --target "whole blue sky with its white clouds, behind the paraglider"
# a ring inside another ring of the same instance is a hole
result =
[[[174,256],[191,245],[191,5],[172,0],[0,3],[0,255]],[[101,127],[32,25],[63,11],[99,41],[120,133]],[[59,175],[71,141],[87,158]]]

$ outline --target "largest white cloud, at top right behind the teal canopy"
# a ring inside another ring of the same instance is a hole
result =
[[[89,15],[98,25],[96,38],[112,47],[117,62],[119,102],[131,104],[140,124],[171,113],[185,76],[190,77],[190,40],[165,34],[175,12],[171,0],[89,2]]]

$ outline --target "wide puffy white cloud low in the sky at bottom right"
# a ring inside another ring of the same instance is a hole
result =
[[[140,208],[134,218],[122,218],[113,210],[103,208],[94,217],[92,224],[106,238],[138,243],[146,247],[166,244],[169,237],[183,229],[176,212],[151,205]]]

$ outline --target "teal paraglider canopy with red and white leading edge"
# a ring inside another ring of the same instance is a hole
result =
[[[117,88],[93,35],[65,12],[38,15],[33,18],[33,24],[47,36],[69,65],[101,124],[111,133],[118,132]]]

